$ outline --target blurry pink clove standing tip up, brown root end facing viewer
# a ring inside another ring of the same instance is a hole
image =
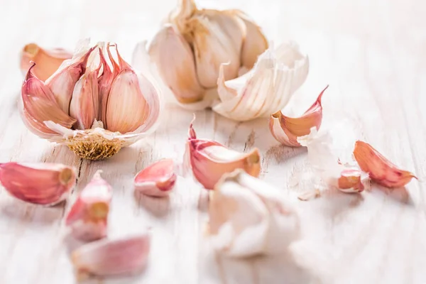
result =
[[[82,241],[93,241],[107,236],[109,205],[112,187],[101,177],[98,170],[83,188],[68,212],[65,224],[70,226],[72,236]]]

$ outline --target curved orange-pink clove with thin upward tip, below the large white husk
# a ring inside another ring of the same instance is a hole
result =
[[[315,103],[302,116],[288,117],[281,111],[271,115],[269,129],[278,142],[285,146],[300,147],[297,137],[308,135],[312,127],[320,129],[322,122],[321,98],[327,87],[322,90]]]

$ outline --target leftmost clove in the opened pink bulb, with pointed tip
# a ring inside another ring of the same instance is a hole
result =
[[[75,124],[75,119],[65,114],[55,102],[55,97],[44,82],[33,75],[33,65],[28,70],[21,88],[23,119],[33,133],[44,137],[55,135],[56,132],[45,126],[44,121],[53,121],[67,129]]]

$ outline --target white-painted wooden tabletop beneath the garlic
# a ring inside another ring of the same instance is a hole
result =
[[[26,130],[16,99],[18,51],[29,42],[73,48],[79,38],[112,40],[130,59],[175,0],[29,1],[0,5],[0,162],[58,162],[79,169],[77,187],[59,207],[13,200],[0,189],[0,283],[75,283],[63,217],[92,174],[104,170],[114,187],[110,235],[151,227],[145,273],[93,283],[426,283],[426,4],[422,0],[200,0],[200,6],[244,9],[269,38],[297,40],[310,55],[310,75],[293,100],[300,110],[324,95],[324,126],[346,118],[354,136],[370,142],[420,177],[403,190],[373,186],[361,195],[329,193],[297,202],[303,239],[295,254],[230,260],[209,249],[203,235],[207,195],[179,180],[170,199],[133,196],[133,175],[159,158],[181,160],[192,113],[168,104],[150,138],[114,158],[89,162]],[[297,104],[296,104],[297,103]],[[279,146],[267,121],[235,123],[197,113],[200,137],[239,151],[258,147],[262,178],[295,198],[312,189],[304,179],[306,151]],[[297,264],[299,263],[299,264]]]

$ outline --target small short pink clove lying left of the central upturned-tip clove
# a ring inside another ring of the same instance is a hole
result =
[[[176,174],[172,159],[163,159],[148,165],[134,178],[135,190],[154,197],[168,196],[175,187]]]

